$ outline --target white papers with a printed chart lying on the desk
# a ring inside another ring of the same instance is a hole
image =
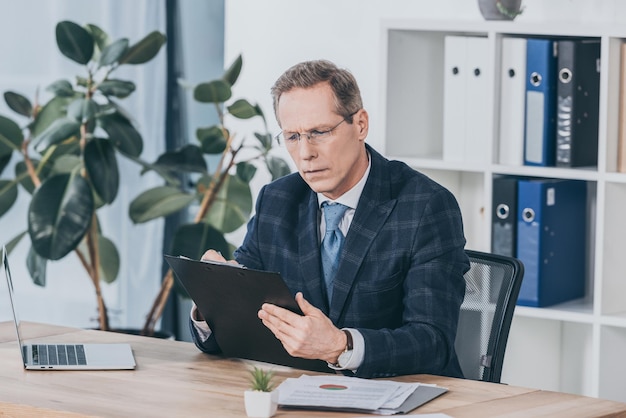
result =
[[[278,387],[278,403],[291,407],[320,407],[376,411],[398,408],[419,386],[389,380],[347,376],[289,378]]]

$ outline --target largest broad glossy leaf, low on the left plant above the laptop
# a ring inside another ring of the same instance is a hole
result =
[[[83,238],[94,211],[93,192],[78,174],[48,178],[35,190],[28,208],[28,234],[41,257],[59,260]]]

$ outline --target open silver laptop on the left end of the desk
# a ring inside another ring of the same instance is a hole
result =
[[[136,367],[130,344],[23,344],[17,314],[15,291],[6,248],[2,247],[2,266],[7,281],[11,310],[20,353],[27,370],[130,370]]]

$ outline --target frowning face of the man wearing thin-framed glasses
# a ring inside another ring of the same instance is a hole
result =
[[[286,141],[285,147],[313,191],[336,199],[361,179],[368,165],[364,141],[369,125],[365,110],[355,113],[351,124],[339,124],[343,117],[335,111],[332,89],[328,83],[320,83],[283,93],[277,117],[283,133],[301,134],[300,140]],[[304,135],[329,129],[332,131],[328,137],[316,144],[309,143]]]

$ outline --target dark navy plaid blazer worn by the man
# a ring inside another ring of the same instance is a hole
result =
[[[260,191],[235,258],[249,268],[280,272],[294,294],[301,291],[337,327],[359,330],[365,357],[357,376],[460,377],[454,339],[469,261],[456,199],[406,164],[367,148],[371,170],[330,303],[317,195],[298,173]],[[197,338],[196,344],[203,349]]]

